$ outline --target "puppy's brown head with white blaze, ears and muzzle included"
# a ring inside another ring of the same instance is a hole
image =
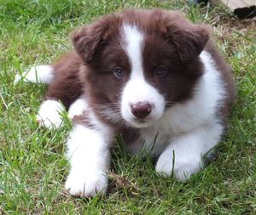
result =
[[[191,97],[208,37],[204,26],[160,9],[125,10],[84,25],[73,46],[86,66],[91,106],[109,122],[152,125]]]

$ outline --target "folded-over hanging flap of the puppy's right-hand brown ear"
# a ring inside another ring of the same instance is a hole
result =
[[[209,33],[204,25],[193,25],[186,20],[178,21],[168,27],[168,37],[177,48],[183,63],[193,61],[205,47]]]

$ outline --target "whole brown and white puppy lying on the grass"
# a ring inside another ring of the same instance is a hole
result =
[[[49,84],[40,125],[61,125],[61,103],[73,120],[70,194],[106,191],[116,134],[131,153],[159,156],[158,173],[184,181],[200,170],[234,96],[230,68],[208,39],[206,27],[177,12],[126,10],[83,26],[73,33],[73,53],[26,74],[36,82],[29,77],[36,70]]]

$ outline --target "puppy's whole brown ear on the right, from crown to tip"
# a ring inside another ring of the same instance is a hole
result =
[[[154,10],[157,25],[177,49],[183,63],[193,61],[205,47],[209,39],[209,28],[206,25],[195,25],[175,11]]]

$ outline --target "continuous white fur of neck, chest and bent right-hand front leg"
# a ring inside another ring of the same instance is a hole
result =
[[[152,127],[141,129],[148,150],[152,148],[158,133],[154,149],[150,151],[154,156],[166,149],[157,161],[156,171],[170,175],[174,153],[173,173],[180,181],[185,181],[200,170],[203,166],[201,156],[218,144],[223,133],[216,111],[225,96],[224,83],[211,55],[203,51],[200,57],[205,74],[195,88],[193,99],[172,106]]]

